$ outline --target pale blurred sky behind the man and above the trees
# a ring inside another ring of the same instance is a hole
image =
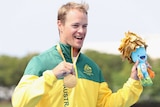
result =
[[[0,0],[0,55],[42,52],[59,41],[57,11],[71,0]],[[160,0],[74,0],[89,4],[83,49],[120,54],[124,32],[141,35],[147,53],[160,58]],[[156,49],[157,48],[157,49]]]

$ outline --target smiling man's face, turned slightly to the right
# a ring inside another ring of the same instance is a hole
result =
[[[80,49],[86,36],[87,25],[88,17],[85,13],[76,9],[70,10],[66,15],[65,23],[58,24],[60,42]]]

